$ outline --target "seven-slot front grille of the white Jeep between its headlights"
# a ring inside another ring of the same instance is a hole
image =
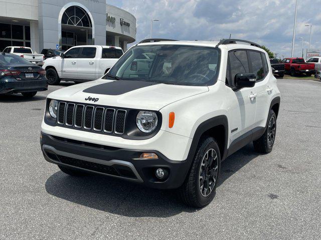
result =
[[[126,113],[125,109],[60,101],[57,123],[79,130],[121,135],[124,134]]]

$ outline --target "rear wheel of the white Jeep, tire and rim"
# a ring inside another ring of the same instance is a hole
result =
[[[273,110],[270,110],[267,119],[267,126],[263,135],[253,141],[255,151],[259,153],[269,153],[272,151],[276,134],[276,115]]]

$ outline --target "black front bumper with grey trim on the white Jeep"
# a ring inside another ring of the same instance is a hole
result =
[[[154,150],[133,150],[93,144],[41,133],[41,149],[47,161],[90,172],[141,183],[148,187],[171,189],[181,186],[191,160],[173,161]],[[135,159],[153,152],[158,159]],[[168,171],[166,179],[155,176],[157,168]]]

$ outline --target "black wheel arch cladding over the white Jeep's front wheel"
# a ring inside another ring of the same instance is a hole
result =
[[[217,141],[220,148],[221,160],[225,159],[227,154],[227,140],[228,140],[228,119],[225,115],[219,115],[207,119],[202,122],[196,129],[191,149],[189,152],[189,159],[193,159],[200,140],[206,136],[212,136]],[[191,160],[192,162],[192,160]]]

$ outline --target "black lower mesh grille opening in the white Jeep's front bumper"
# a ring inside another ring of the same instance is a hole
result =
[[[100,163],[90,162],[90,161],[83,161],[79,160],[73,157],[63,156],[63,155],[57,155],[59,158],[59,161],[71,166],[77,166],[84,169],[96,171],[96,172],[102,172],[114,176],[119,176],[119,173],[116,171],[116,169],[113,166],[107,166]]]

